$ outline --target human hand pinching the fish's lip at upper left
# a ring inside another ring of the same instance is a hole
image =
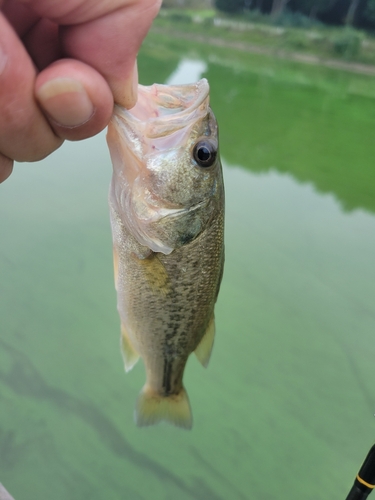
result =
[[[161,0],[0,0],[0,182],[137,100],[136,56]]]

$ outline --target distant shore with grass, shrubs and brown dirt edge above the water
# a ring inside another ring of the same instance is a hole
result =
[[[152,30],[215,47],[375,75],[375,38],[354,28],[275,26],[214,10],[162,9]]]

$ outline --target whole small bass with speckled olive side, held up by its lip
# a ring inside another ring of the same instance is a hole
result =
[[[183,373],[206,367],[224,266],[224,184],[206,79],[139,85],[131,110],[115,105],[107,132],[117,309],[125,371],[139,358],[146,383],[138,426],[192,427]]]

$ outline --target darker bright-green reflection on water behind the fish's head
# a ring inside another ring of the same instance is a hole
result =
[[[163,53],[155,43],[153,49]],[[262,61],[251,58],[246,71],[238,70],[230,55],[220,57],[212,48],[206,60],[193,52],[176,59],[173,69],[170,58],[150,70],[147,51],[143,61],[140,74],[148,84],[159,74],[169,75],[169,83],[209,80],[221,151],[231,163],[253,172],[289,173],[319,192],[333,193],[345,210],[375,213],[375,106],[361,93],[371,87],[371,78],[319,68],[304,68],[301,78],[298,65],[290,69],[279,61],[259,73]]]

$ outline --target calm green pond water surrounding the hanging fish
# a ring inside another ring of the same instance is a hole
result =
[[[0,186],[0,482],[16,500],[344,499],[375,439],[375,82],[156,35],[139,66],[146,84],[203,72],[220,122],[227,259],[210,365],[185,375],[193,430],[133,423],[101,134]]]

